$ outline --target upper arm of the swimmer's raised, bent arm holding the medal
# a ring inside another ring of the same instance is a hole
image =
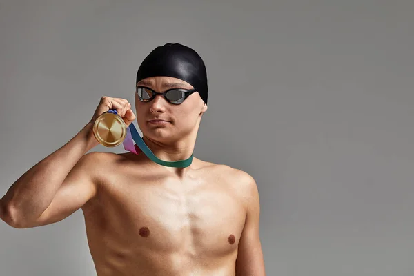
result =
[[[28,227],[43,226],[61,221],[75,213],[97,193],[96,181],[93,177],[97,162],[97,152],[83,155],[70,170],[52,202],[40,217]]]

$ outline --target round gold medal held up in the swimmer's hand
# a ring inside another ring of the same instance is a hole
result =
[[[115,147],[121,144],[126,137],[126,124],[121,116],[104,112],[95,121],[93,134],[103,146]]]

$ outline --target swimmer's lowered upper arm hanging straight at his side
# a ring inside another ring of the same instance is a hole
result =
[[[244,179],[247,181],[245,189],[243,189],[244,199],[246,199],[246,221],[239,241],[236,275],[264,276],[266,273],[259,237],[259,192],[253,177],[245,175]]]

